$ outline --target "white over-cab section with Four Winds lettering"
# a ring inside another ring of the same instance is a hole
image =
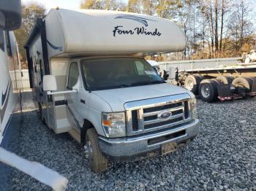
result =
[[[50,58],[178,52],[186,45],[170,20],[127,12],[51,9],[45,28]]]

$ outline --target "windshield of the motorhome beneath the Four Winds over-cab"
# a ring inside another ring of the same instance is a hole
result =
[[[94,58],[80,61],[87,90],[164,83],[143,58]]]

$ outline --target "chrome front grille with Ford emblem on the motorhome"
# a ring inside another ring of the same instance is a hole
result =
[[[165,112],[170,112],[171,114],[169,117],[162,118],[161,115]],[[170,127],[175,128],[176,125],[189,120],[189,101],[177,101],[171,104],[151,107],[141,106],[140,109],[132,110],[130,116],[130,127],[132,126],[132,132],[134,133],[146,133]]]

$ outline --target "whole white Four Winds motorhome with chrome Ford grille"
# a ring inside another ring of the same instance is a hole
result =
[[[197,136],[195,95],[167,84],[143,56],[185,44],[176,24],[159,17],[51,9],[26,42],[43,122],[69,132],[94,171],[108,160],[173,152]]]

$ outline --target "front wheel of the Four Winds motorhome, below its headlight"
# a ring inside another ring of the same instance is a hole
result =
[[[94,128],[89,128],[86,132],[86,152],[89,155],[89,165],[94,172],[106,171],[108,169],[108,159],[99,149],[98,135]]]

